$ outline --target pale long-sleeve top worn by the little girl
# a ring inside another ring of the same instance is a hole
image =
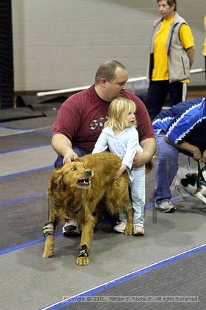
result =
[[[126,127],[120,134],[115,136],[111,127],[105,127],[92,151],[100,153],[109,148],[110,152],[122,159],[122,165],[131,169],[137,151],[142,152],[139,145],[139,134],[135,127]]]

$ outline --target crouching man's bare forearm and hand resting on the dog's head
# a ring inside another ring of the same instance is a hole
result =
[[[52,147],[55,152],[63,157],[64,164],[78,158],[78,155],[73,152],[71,141],[64,134],[54,134],[52,136]]]

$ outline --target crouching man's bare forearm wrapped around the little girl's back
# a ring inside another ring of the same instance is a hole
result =
[[[139,168],[146,165],[156,152],[155,138],[147,138],[140,142],[143,152],[137,152],[133,161],[133,168]]]

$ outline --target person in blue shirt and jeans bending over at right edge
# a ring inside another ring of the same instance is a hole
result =
[[[162,212],[174,212],[170,185],[178,169],[179,153],[206,163],[206,103],[196,98],[173,105],[152,122],[159,159],[156,165],[154,205]]]

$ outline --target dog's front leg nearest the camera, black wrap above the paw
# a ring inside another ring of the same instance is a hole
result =
[[[89,249],[91,247],[91,239],[93,237],[93,225],[94,217],[92,215],[87,216],[87,220],[81,223],[82,237],[79,248],[79,255],[76,260],[77,265],[85,266],[89,264]]]

